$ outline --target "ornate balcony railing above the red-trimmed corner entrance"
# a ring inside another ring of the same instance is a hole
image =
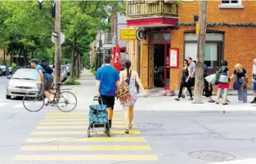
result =
[[[177,17],[176,2],[165,1],[128,1],[128,19],[152,16]]]

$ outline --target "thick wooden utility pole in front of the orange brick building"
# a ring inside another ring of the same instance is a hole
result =
[[[197,43],[197,64],[195,67],[195,104],[202,104],[204,90],[204,46],[206,35],[207,1],[200,1],[199,37]]]

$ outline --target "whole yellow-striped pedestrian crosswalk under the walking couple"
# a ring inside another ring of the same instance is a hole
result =
[[[97,134],[91,134],[92,137],[88,138],[87,111],[50,111],[11,161],[51,164],[78,161],[158,161],[141,131],[134,126],[129,135],[124,134],[123,113],[115,111],[114,115],[111,137],[97,129]]]

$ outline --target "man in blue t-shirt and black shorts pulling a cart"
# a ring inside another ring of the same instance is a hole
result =
[[[111,55],[106,55],[106,64],[98,69],[96,74],[97,96],[101,97],[102,103],[107,106],[110,127],[112,125],[113,109],[115,105],[115,91],[118,90],[119,86],[119,73],[110,64],[111,59]]]

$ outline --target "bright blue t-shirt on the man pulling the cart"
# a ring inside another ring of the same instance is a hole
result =
[[[96,79],[100,81],[100,94],[115,96],[116,85],[119,81],[119,73],[111,65],[105,65],[97,70]]]

